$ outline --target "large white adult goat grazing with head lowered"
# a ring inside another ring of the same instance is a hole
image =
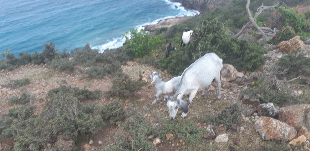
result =
[[[167,107],[169,108],[169,117],[175,118],[179,107],[182,108],[182,117],[187,116],[188,107],[192,103],[199,88],[208,89],[213,79],[219,87],[218,99],[221,98],[221,80],[220,74],[223,67],[223,60],[215,53],[207,53],[196,60],[182,73],[182,78],[175,94],[168,98]],[[182,100],[183,95],[189,94],[188,102]]]

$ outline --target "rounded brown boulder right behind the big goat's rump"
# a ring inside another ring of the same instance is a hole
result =
[[[230,64],[224,64],[223,68],[221,70],[221,81],[222,82],[230,82],[237,79],[237,69],[230,65]]]

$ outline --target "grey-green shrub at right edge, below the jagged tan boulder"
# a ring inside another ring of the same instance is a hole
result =
[[[277,64],[281,67],[280,70],[286,73],[286,77],[295,78],[300,75],[310,74],[310,58],[305,57],[305,54],[291,51],[286,56],[281,57]]]

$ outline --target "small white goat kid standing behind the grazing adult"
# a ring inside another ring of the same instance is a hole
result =
[[[172,78],[169,81],[162,81],[160,79],[160,74],[158,72],[153,72],[150,76],[150,79],[152,79],[151,83],[155,82],[155,88],[156,88],[156,95],[155,95],[155,99],[152,102],[152,104],[155,104],[157,102],[157,99],[162,95],[162,94],[166,94],[166,93],[171,93],[174,90],[176,90],[179,86],[180,80],[181,80],[181,76],[176,76],[174,78]],[[165,95],[165,99],[167,99],[168,96]]]

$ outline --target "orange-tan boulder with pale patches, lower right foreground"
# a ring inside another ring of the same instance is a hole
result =
[[[290,141],[297,135],[293,126],[271,117],[260,117],[254,124],[255,130],[263,140]]]

